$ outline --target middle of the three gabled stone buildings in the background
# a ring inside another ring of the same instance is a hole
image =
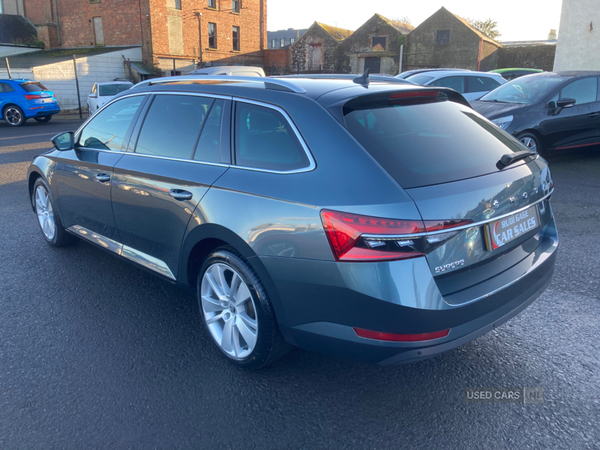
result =
[[[375,14],[341,45],[345,72],[398,73],[399,38],[415,27]]]

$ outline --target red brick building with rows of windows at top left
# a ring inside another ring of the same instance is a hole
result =
[[[266,0],[24,0],[24,12],[46,48],[140,45],[163,72],[262,64],[267,44]]]

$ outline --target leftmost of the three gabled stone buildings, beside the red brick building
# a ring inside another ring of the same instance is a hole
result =
[[[290,47],[292,72],[339,72],[340,45],[351,30],[313,23]]]

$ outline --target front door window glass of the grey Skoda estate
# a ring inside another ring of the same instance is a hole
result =
[[[83,129],[77,145],[98,150],[123,151],[123,140],[143,100],[143,95],[136,95],[104,108]]]

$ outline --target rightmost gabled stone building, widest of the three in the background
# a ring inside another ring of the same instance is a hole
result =
[[[501,45],[442,7],[408,35],[403,70],[496,68]]]

